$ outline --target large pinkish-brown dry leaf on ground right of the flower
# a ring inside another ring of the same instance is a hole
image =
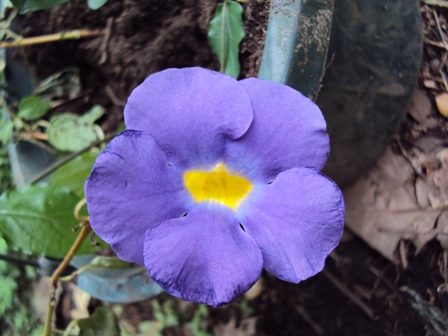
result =
[[[347,226],[393,262],[398,262],[395,250],[402,239],[411,240],[418,252],[438,234],[445,237],[435,224],[448,201],[448,190],[442,190],[448,189],[448,170],[434,168],[435,157],[417,150],[405,159],[388,148],[364,177],[344,190]],[[425,164],[430,167],[427,175],[422,174]]]

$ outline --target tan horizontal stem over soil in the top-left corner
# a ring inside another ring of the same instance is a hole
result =
[[[101,35],[102,33],[103,32],[101,30],[88,30],[88,29],[71,30],[67,32],[50,34],[50,35],[26,37],[17,41],[1,42],[0,48],[25,47],[33,44],[48,43],[69,39],[80,39],[83,37],[98,36]]]

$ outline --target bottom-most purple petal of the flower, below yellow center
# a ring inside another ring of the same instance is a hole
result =
[[[201,203],[147,231],[145,266],[171,295],[218,307],[255,283],[263,259],[230,209]]]

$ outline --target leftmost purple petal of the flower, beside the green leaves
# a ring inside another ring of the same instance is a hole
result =
[[[180,217],[192,205],[182,177],[154,138],[124,131],[98,157],[85,194],[93,230],[118,257],[143,264],[148,228]]]

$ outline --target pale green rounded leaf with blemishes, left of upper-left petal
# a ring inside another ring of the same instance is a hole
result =
[[[51,119],[48,128],[48,141],[58,150],[76,152],[99,140],[98,129],[94,122],[104,114],[97,105],[81,117],[72,113],[63,113]],[[101,129],[99,129],[101,130]]]

